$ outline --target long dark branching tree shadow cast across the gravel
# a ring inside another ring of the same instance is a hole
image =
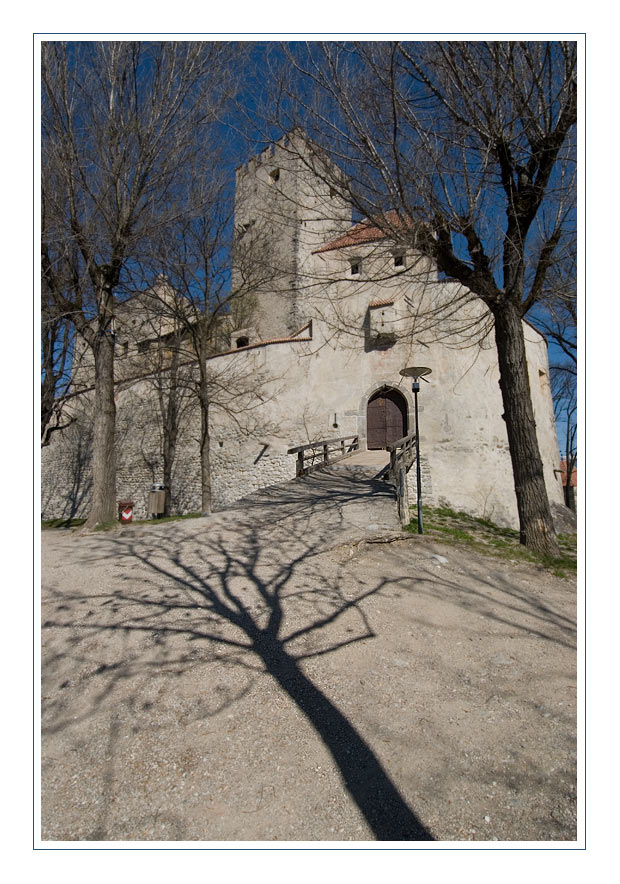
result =
[[[248,671],[269,673],[331,753],[375,838],[434,840],[369,744],[303,671],[304,660],[374,635],[361,602],[380,592],[384,582],[352,586],[342,571],[322,573],[317,553],[338,537],[345,506],[392,491],[383,483],[360,485],[346,476],[331,481],[327,496],[321,478],[304,488],[303,500],[283,487],[262,506],[243,506],[223,519],[201,520],[196,527],[179,528],[177,523],[165,532],[149,529],[97,538],[87,555],[85,548],[79,554],[93,571],[114,557],[116,585],[73,597],[57,591],[56,600],[62,603],[44,629],[155,636],[167,647],[166,665],[179,669],[188,664],[190,649],[198,643],[210,651],[224,650]],[[330,629],[345,616],[356,618],[356,634],[334,639]],[[74,635],[71,641],[79,645],[81,639]],[[60,647],[56,653],[66,650]],[[115,683],[130,678],[142,663],[152,665],[141,661],[138,652],[133,661],[102,664],[93,674],[110,666],[110,679],[95,702],[109,698]],[[66,709],[59,708],[55,720],[50,719],[52,729],[68,724]],[[99,827],[98,837],[104,828]]]

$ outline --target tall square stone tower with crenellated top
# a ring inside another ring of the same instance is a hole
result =
[[[318,285],[312,252],[351,226],[351,207],[324,180],[326,168],[318,149],[295,132],[237,170],[232,285],[253,296],[259,340],[304,324]]]

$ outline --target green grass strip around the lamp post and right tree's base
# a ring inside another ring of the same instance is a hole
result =
[[[411,507],[413,518],[404,530],[417,534],[418,520],[415,507]],[[454,543],[475,549],[477,552],[513,562],[532,562],[551,571],[557,577],[577,570],[577,535],[560,534],[560,557],[555,559],[532,552],[519,543],[519,532],[513,528],[502,528],[489,519],[476,518],[462,511],[446,506],[422,507],[424,534],[436,540]]]

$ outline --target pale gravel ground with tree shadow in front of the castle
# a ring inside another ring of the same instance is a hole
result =
[[[43,532],[44,841],[576,839],[574,579],[362,497]]]

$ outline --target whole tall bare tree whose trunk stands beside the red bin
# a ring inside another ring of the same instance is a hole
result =
[[[234,90],[232,59],[241,51],[203,42],[42,47],[44,248],[71,255],[72,284],[54,288],[53,298],[94,360],[87,527],[115,510],[118,297],[144,241],[170,220],[171,195],[183,192],[204,132]]]

